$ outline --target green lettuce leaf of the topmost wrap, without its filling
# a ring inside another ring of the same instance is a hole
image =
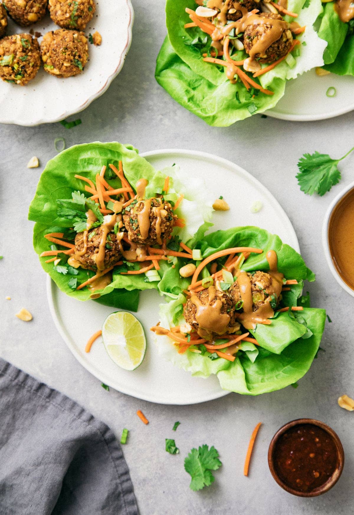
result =
[[[239,80],[230,83],[223,66],[203,61],[210,53],[211,38],[199,27],[184,28],[191,20],[185,8],[195,10],[194,0],[167,0],[167,37],[157,58],[156,79],[183,107],[204,119],[209,125],[225,127],[255,113],[274,107],[284,94],[286,80],[322,66],[326,42],[319,38],[313,24],[322,12],[320,0],[289,0],[288,9],[298,13],[297,21],[305,26],[298,36],[301,44],[293,52],[290,65],[282,61],[260,76],[260,84],[274,94],[250,95]],[[285,16],[286,21],[291,21]],[[245,59],[237,51],[232,59]],[[264,67],[265,65],[262,65]]]

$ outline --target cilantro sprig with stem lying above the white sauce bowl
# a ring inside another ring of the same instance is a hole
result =
[[[340,161],[345,159],[354,147],[340,159],[332,159],[328,154],[304,154],[297,163],[299,172],[296,175],[300,190],[308,195],[318,193],[321,197],[329,192],[332,186],[341,180],[341,172],[338,169]]]

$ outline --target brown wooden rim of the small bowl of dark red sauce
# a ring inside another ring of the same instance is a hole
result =
[[[288,485],[282,482],[275,468],[275,449],[279,437],[283,435],[286,431],[288,431],[291,427],[294,427],[299,424],[312,424],[321,427],[330,435],[337,451],[337,465],[335,471],[323,485],[315,488],[314,490],[311,490],[311,492],[299,492],[298,490],[294,490],[293,488],[289,487]],[[278,485],[281,486],[281,488],[283,488],[286,492],[289,492],[293,495],[298,495],[299,497],[316,497],[317,495],[322,495],[323,493],[328,492],[328,490],[332,488],[332,486],[334,486],[338,479],[341,477],[344,467],[344,451],[341,440],[339,439],[338,435],[334,433],[334,431],[328,425],[324,424],[323,422],[320,422],[319,420],[314,419],[297,419],[292,420],[291,422],[288,422],[287,424],[280,427],[280,429],[273,436],[268,449],[268,465],[269,470],[272,473],[272,476],[274,477]]]

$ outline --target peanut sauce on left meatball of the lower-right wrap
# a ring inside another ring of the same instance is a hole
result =
[[[208,288],[207,304],[203,304],[196,295],[192,295],[191,303],[197,308],[195,319],[199,325],[199,336],[210,339],[211,332],[225,334],[230,323],[230,315],[221,312],[223,303],[216,297],[215,286]]]

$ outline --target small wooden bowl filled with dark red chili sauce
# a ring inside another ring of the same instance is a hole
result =
[[[293,420],[277,431],[268,450],[271,473],[284,490],[301,497],[327,492],[341,476],[339,437],[323,422]]]

